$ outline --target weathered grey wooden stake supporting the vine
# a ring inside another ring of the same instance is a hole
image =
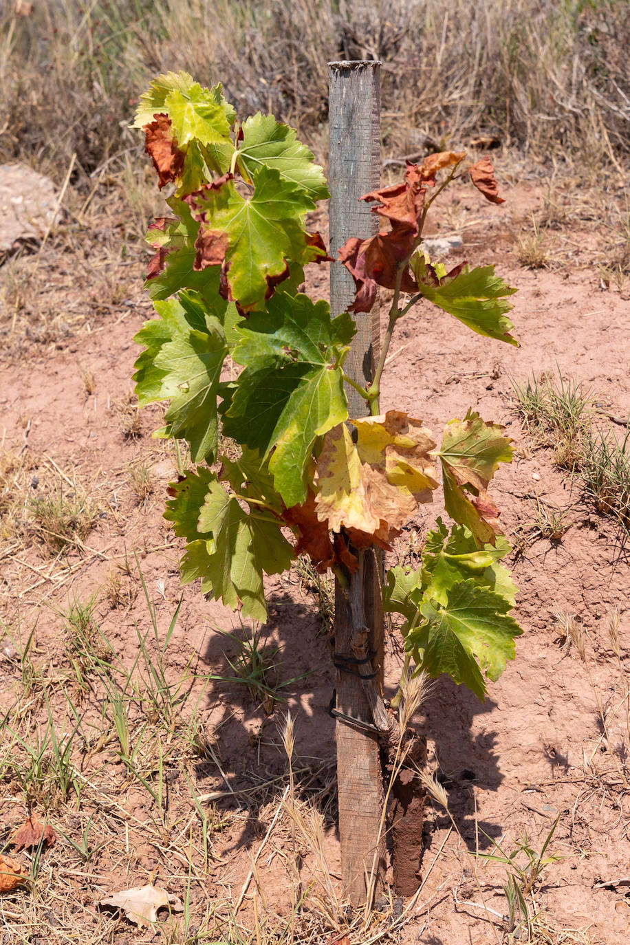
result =
[[[359,198],[380,185],[380,62],[329,62],[331,255],[336,258],[349,236],[366,238],[378,229],[378,217]],[[354,283],[344,266],[331,266],[333,315],[347,311],[354,299]],[[349,377],[365,387],[373,376],[380,346],[378,303],[371,315],[360,315],[345,364]],[[369,413],[366,401],[349,388],[349,415]],[[382,562],[370,549],[355,577],[362,586],[368,651],[373,665],[383,675]],[[356,585],[355,585],[356,586]],[[352,657],[353,623],[347,593],[335,587],[335,652]],[[338,661],[339,662],[339,661]],[[349,665],[351,668],[351,664]],[[382,682],[382,679],[381,679]],[[337,671],[337,710],[371,723],[372,716],[361,680]],[[374,861],[374,850],[383,811],[383,772],[375,734],[337,720],[337,783],[339,834],[344,892],[350,902],[366,900],[366,875]],[[379,844],[377,869],[383,873],[384,838]]]

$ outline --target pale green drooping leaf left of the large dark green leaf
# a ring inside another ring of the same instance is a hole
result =
[[[216,456],[218,418],[216,397],[228,345],[216,318],[207,318],[206,331],[176,335],[156,354],[162,378],[162,397],[171,403],[164,415],[164,435],[185,438],[193,462]]]

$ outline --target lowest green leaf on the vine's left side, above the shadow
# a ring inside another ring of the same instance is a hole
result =
[[[245,616],[266,619],[263,572],[285,571],[293,548],[270,512],[247,511],[219,482],[211,482],[199,515],[199,529],[213,536],[214,551],[205,560],[205,578],[215,599]],[[198,557],[196,558],[198,563]],[[203,562],[202,562],[203,563]]]

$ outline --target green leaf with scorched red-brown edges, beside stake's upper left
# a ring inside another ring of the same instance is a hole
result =
[[[253,173],[254,192],[245,198],[230,174],[201,189],[192,202],[201,221],[196,268],[222,266],[230,301],[244,311],[263,307],[290,261],[306,262],[317,250],[306,244],[304,215],[315,202],[275,168]]]

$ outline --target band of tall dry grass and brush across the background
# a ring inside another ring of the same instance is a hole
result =
[[[599,168],[630,152],[626,12],[622,0],[43,0],[27,16],[9,4],[0,160],[37,158],[58,179],[73,154],[83,173],[124,165],[138,92],[173,68],[321,143],[327,62],[379,59],[395,153],[494,139]]]

